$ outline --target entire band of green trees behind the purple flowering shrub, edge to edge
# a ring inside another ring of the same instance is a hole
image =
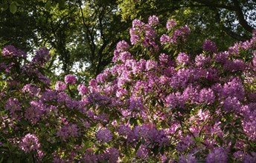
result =
[[[249,39],[256,27],[252,0],[4,0],[0,5],[1,47],[13,44],[28,52],[48,47],[53,51],[48,70],[81,74],[83,69],[87,78],[111,64],[115,44],[128,39],[132,19],[156,15],[162,27],[167,19],[189,24],[193,33],[184,48],[191,54],[202,50],[205,38],[225,50]]]

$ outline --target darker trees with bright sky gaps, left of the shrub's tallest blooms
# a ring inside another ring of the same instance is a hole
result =
[[[127,33],[128,23],[116,14],[115,1],[16,1],[16,12],[11,9],[14,2],[5,2],[10,10],[1,12],[1,46],[50,48],[48,70],[67,74],[78,65],[79,73],[83,67],[84,76],[96,76],[110,64],[115,44]]]

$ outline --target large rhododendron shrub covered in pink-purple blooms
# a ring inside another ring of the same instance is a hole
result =
[[[255,162],[256,32],[224,52],[207,39],[191,56],[188,26],[170,20],[158,36],[159,26],[135,19],[131,44],[120,41],[89,85],[51,82],[45,48],[27,61],[4,47],[0,160]]]

